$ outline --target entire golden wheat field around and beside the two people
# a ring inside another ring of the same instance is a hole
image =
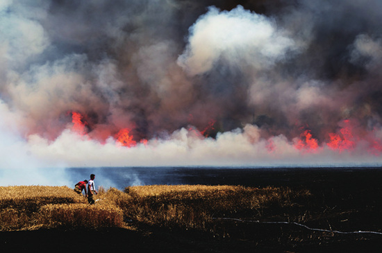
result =
[[[0,187],[0,230],[126,228],[132,222],[208,229],[216,216],[258,216],[259,209],[292,206],[309,195],[273,187],[151,185],[100,188],[90,205],[67,186],[7,186]]]

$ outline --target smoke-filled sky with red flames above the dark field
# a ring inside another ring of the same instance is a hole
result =
[[[382,162],[379,0],[0,1],[0,168]]]

